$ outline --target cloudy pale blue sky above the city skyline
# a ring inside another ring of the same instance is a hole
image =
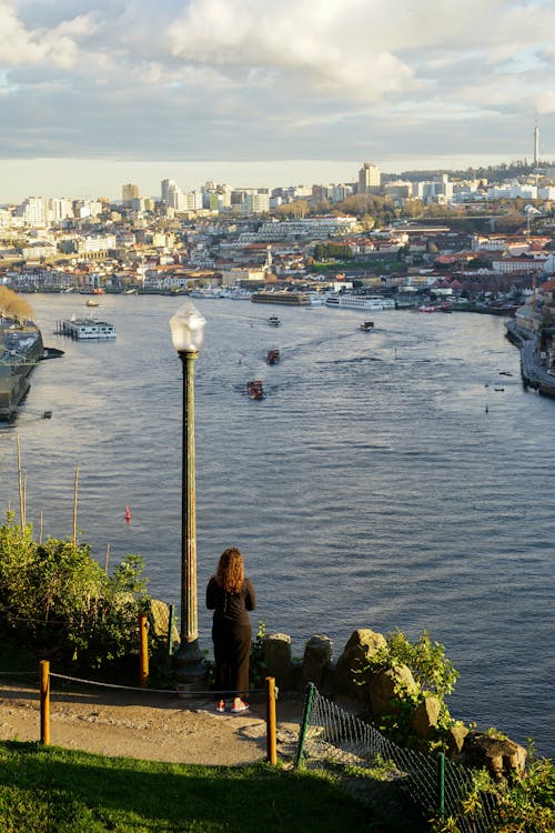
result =
[[[0,202],[555,158],[554,0],[0,0]]]

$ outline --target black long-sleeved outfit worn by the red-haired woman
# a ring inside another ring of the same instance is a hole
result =
[[[245,579],[241,592],[226,593],[212,576],[206,588],[206,608],[214,611],[212,641],[216,691],[229,692],[230,696],[245,696],[249,693],[252,642],[248,611],[256,608],[252,582]]]

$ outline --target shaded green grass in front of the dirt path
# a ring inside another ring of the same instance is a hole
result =
[[[196,766],[0,743],[1,833],[385,831],[330,777],[269,764]]]

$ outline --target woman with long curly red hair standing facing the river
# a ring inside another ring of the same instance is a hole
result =
[[[233,693],[231,711],[244,712],[243,700],[249,692],[249,658],[252,626],[248,611],[256,608],[256,595],[244,574],[243,556],[230,546],[220,556],[215,575],[206,588],[206,608],[214,611],[212,641],[214,643],[215,688]],[[225,711],[220,699],[216,711]]]

